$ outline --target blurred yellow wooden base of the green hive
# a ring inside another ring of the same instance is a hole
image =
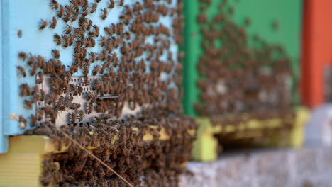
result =
[[[287,141],[289,147],[301,147],[304,142],[304,124],[309,118],[309,111],[306,108],[297,108],[294,126],[288,132],[280,131],[282,120],[250,120],[248,123],[238,125],[212,125],[209,118],[197,118],[199,130],[197,140],[194,142],[193,157],[202,162],[211,162],[218,158],[218,140],[214,135],[221,132],[232,133],[232,140],[240,140],[248,137],[264,137],[264,130],[275,131],[267,137],[270,147],[280,145],[281,141]],[[285,138],[285,136],[287,136]]]

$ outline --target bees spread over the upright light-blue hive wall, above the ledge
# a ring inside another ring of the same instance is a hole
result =
[[[45,108],[52,108],[54,116],[51,117],[57,116],[55,114],[59,112],[59,108],[77,113],[81,107],[79,105],[59,106],[56,103],[62,103],[58,101],[60,96],[67,101],[70,97],[68,95],[82,94],[82,87],[70,84],[72,75],[82,71],[84,80],[87,80],[85,84],[91,86],[92,93],[97,95],[93,101],[87,101],[91,107],[83,108],[84,113],[104,111],[99,109],[103,108],[101,106],[106,101],[99,96],[112,94],[118,96],[113,102],[116,108],[106,112],[113,117],[121,115],[121,109],[128,101],[133,110],[137,106],[162,105],[167,106],[165,115],[180,114],[180,90],[170,85],[174,82],[179,87],[181,84],[181,66],[177,62],[182,55],[177,57],[172,54],[170,47],[182,40],[179,30],[182,29],[183,17],[179,16],[182,5],[172,7],[171,3],[172,1],[165,1],[165,4],[157,4],[147,0],[144,4],[137,2],[124,6],[124,1],[118,1],[118,4],[116,1],[109,1],[108,7],[103,8],[98,6],[99,1],[89,4],[87,0],[74,0],[67,5],[59,4],[55,0],[50,1],[50,7],[56,11],[56,15],[50,18],[50,21],[41,19],[38,26],[40,30],[56,28],[57,19],[62,19],[66,23],[71,20],[79,26],[75,28],[73,23],[67,23],[63,33],[55,33],[52,36],[55,45],[59,47],[51,51],[50,59],[28,52],[18,54],[18,57],[28,64],[28,69],[17,66],[21,77],[36,76],[37,84],[43,84],[45,77],[49,77],[50,82],[48,93],[35,90],[32,94],[21,94],[31,98],[26,99],[26,108],[32,108],[33,103],[45,99]],[[99,28],[87,17],[99,11],[102,12],[101,19],[106,19],[109,11],[115,6],[123,6],[119,23],[111,23],[110,26],[106,24]],[[76,14],[78,17],[74,18]],[[174,23],[171,29],[158,22],[160,16],[172,16]],[[101,30],[105,35],[101,35]],[[154,45],[147,42],[147,37],[155,38]],[[61,50],[70,46],[74,46],[73,59],[72,64],[66,67],[60,60]],[[100,52],[88,52],[96,46],[102,48]],[[120,52],[116,52],[117,49]],[[150,73],[146,73],[148,69]],[[162,74],[167,74],[167,79],[162,79]],[[101,79],[90,82],[89,75],[98,75]],[[42,108],[44,113],[45,108]],[[51,112],[48,110],[48,113]]]

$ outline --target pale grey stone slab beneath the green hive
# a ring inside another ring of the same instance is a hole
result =
[[[231,154],[188,169],[194,176],[181,176],[180,186],[332,187],[332,147]]]

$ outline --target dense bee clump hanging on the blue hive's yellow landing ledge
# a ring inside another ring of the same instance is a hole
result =
[[[148,124],[157,125],[151,128]],[[53,140],[57,149],[62,146],[70,147],[65,153],[48,155],[41,177],[43,185],[126,186],[118,176],[105,169],[86,152],[73,147],[72,142],[58,133],[54,126],[47,123],[42,123],[41,126],[43,128],[28,130],[26,134],[51,133],[55,136]],[[165,128],[167,134],[172,135],[170,140],[158,140],[159,128]],[[140,116],[131,116],[126,120],[106,122],[104,118],[96,118],[94,123],[81,127],[62,126],[65,132],[72,132],[79,137],[79,144],[97,147],[92,150],[94,155],[131,181],[133,186],[177,186],[175,179],[184,170],[181,164],[191,157],[190,147],[194,135],[190,135],[188,130],[196,128],[191,118],[165,118],[155,110],[145,111]],[[144,141],[145,132],[151,133],[153,140]],[[179,144],[182,146],[177,146]],[[59,163],[60,167],[54,166],[54,163]]]

